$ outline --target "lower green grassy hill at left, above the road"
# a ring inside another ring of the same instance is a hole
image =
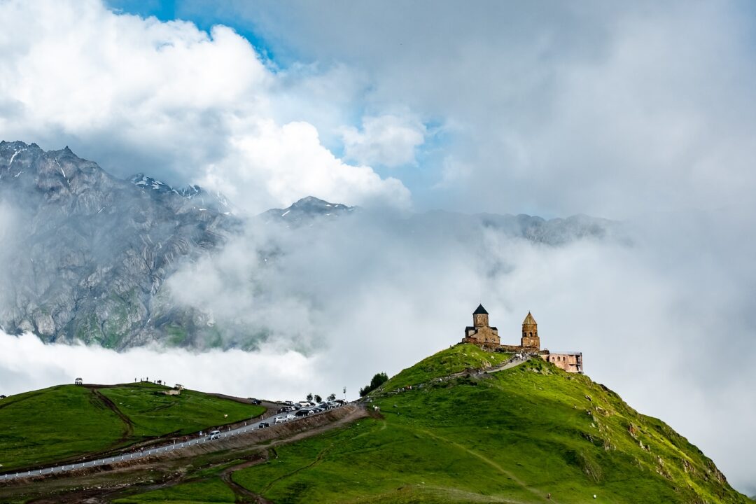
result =
[[[133,383],[59,385],[0,401],[0,464],[6,472],[103,453],[166,434],[189,434],[258,416],[265,408]],[[228,417],[225,417],[228,415]]]

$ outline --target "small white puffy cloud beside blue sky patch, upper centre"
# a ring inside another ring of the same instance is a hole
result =
[[[408,116],[386,114],[362,119],[362,131],[344,128],[345,158],[389,167],[414,164],[415,150],[425,141],[426,127]]]

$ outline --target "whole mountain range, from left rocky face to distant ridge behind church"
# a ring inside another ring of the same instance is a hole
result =
[[[12,246],[0,251],[0,329],[34,332],[45,342],[78,340],[108,348],[151,342],[254,346],[259,333],[243,329],[228,337],[212,313],[172,302],[166,281],[182,266],[221,250],[246,226],[299,233],[316,221],[340,225],[370,218],[359,207],[308,196],[244,220],[222,194],[197,185],[177,189],[142,173],[122,180],[68,147],[45,151],[19,141],[0,142],[2,201],[15,214],[6,237]],[[465,243],[491,230],[560,246],[604,240],[618,229],[615,222],[587,216],[546,221],[426,212],[382,218],[397,233],[422,230]],[[263,260],[286,252],[275,249]]]

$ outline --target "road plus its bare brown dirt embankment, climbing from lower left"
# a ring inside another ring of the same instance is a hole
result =
[[[274,424],[274,418],[277,416],[273,414],[271,416],[255,420],[254,422],[246,422],[244,425],[240,425],[236,428],[228,428],[228,430],[222,431],[220,434],[216,434],[216,437],[210,439],[209,435],[203,435],[198,438],[194,438],[188,441],[174,442],[172,444],[166,444],[160,447],[145,448],[134,453],[122,453],[120,455],[107,456],[101,459],[93,459],[85,462],[76,462],[73,464],[56,465],[54,467],[39,468],[29,471],[10,472],[4,475],[0,475],[0,484],[11,481],[29,481],[30,478],[45,478],[51,475],[60,476],[67,473],[78,473],[82,470],[110,470],[116,468],[119,465],[135,465],[136,463],[146,462],[155,457],[167,456],[172,453],[187,452],[191,453],[191,450],[197,448],[203,449],[203,451],[217,451],[228,449],[228,441],[234,440],[234,438],[243,437],[244,441],[248,438],[249,434],[253,432],[262,431],[269,435],[266,438],[274,438],[276,434],[287,435],[293,434],[294,430],[311,430],[322,428],[324,425],[338,422],[340,423],[344,418],[355,417],[361,410],[352,404],[346,404],[342,407],[337,407],[333,410],[327,410],[322,413],[315,413],[311,416],[298,417],[297,419],[285,422],[282,424]],[[261,422],[267,422],[270,427],[260,428]],[[302,429],[292,429],[293,425],[299,425]],[[288,427],[288,428],[287,428]]]

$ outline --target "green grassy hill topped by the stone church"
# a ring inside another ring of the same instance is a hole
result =
[[[438,381],[503,358],[457,345],[374,391],[380,413],[277,447],[231,487],[206,472],[116,502],[237,502],[233,487],[278,504],[750,502],[685,438],[587,376],[535,359]]]

